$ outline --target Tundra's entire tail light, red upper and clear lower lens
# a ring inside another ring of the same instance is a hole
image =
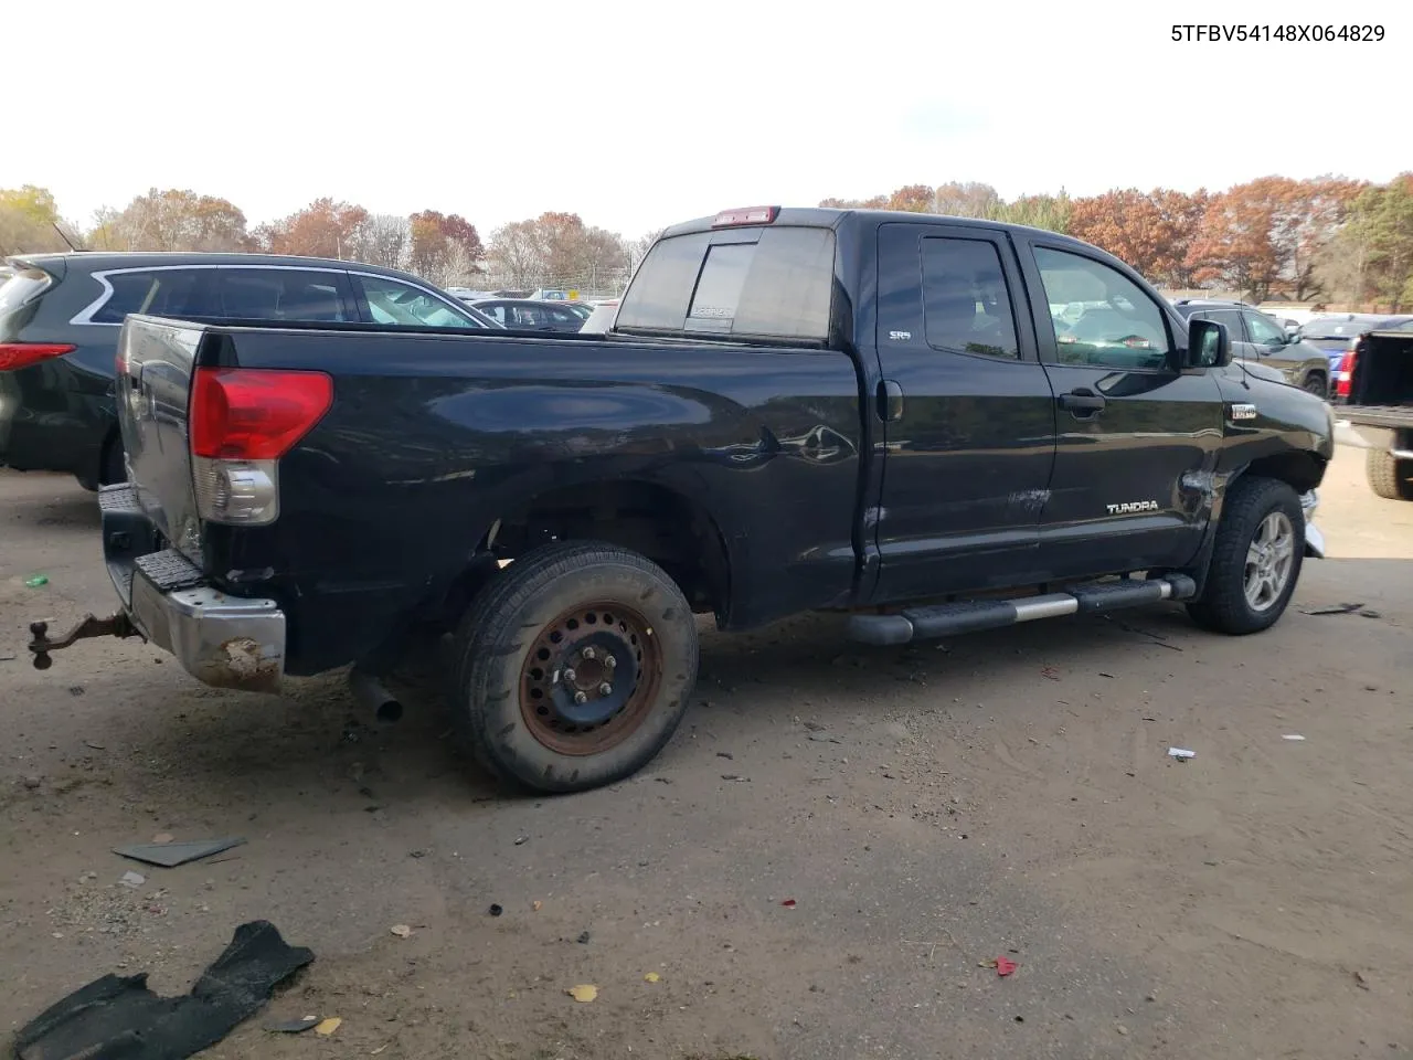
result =
[[[188,438],[203,520],[263,526],[280,514],[280,458],[333,403],[322,372],[198,367]]]

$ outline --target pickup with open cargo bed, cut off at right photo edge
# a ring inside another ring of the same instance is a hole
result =
[[[1385,321],[1340,355],[1335,417],[1365,447],[1375,495],[1413,500],[1413,317]]]

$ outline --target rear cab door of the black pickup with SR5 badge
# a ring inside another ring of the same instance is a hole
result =
[[[1023,581],[1037,564],[1056,404],[1015,250],[985,228],[890,222],[877,261],[872,414],[886,455],[869,513],[872,599]]]

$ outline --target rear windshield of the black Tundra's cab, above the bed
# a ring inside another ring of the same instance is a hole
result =
[[[834,232],[766,228],[658,240],[619,307],[619,331],[824,341]]]

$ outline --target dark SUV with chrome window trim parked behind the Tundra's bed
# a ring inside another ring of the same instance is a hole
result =
[[[113,407],[130,312],[225,321],[496,328],[393,269],[274,254],[69,253],[6,261],[0,280],[0,466],[126,478]]]

